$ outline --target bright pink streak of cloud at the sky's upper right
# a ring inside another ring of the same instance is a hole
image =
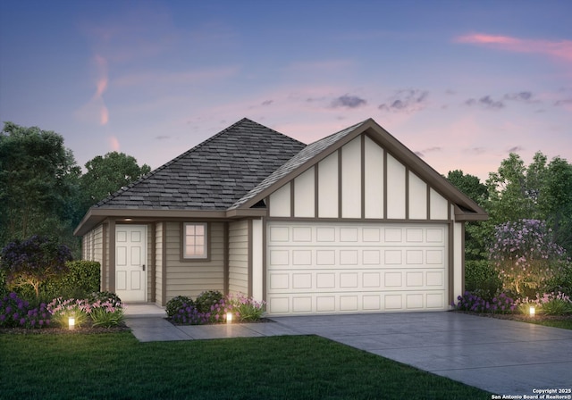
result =
[[[492,46],[501,50],[517,53],[548,54],[552,57],[572,63],[572,40],[521,39],[518,37],[487,35],[475,33],[456,37],[457,43]]]

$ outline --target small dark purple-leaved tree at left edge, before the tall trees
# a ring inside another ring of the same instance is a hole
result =
[[[31,285],[39,297],[39,285],[48,278],[61,276],[68,271],[71,260],[68,246],[59,245],[55,239],[34,235],[9,243],[0,252],[0,268],[4,270],[9,286]]]

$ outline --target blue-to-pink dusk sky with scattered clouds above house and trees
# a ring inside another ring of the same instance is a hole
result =
[[[0,3],[0,121],[153,169],[248,117],[311,143],[373,118],[442,174],[572,162],[570,1]]]

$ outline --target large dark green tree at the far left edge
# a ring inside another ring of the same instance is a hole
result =
[[[80,173],[63,137],[5,122],[0,132],[0,246],[31,234],[55,234],[72,243]]]

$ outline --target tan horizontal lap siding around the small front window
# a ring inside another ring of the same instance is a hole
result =
[[[224,290],[224,223],[208,224],[207,260],[181,260],[181,222],[166,223],[166,293],[169,301],[174,296],[196,297],[206,290]],[[158,230],[158,229],[157,229]],[[166,296],[165,296],[166,295]]]

